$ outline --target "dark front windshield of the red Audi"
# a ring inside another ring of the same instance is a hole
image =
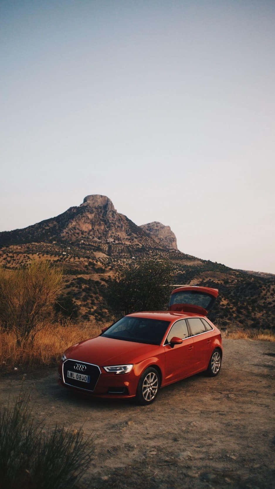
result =
[[[101,336],[108,338],[160,345],[169,326],[169,321],[144,317],[125,316],[113,324]]]

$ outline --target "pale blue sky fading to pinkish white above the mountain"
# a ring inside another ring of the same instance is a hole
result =
[[[275,273],[274,25],[274,0],[0,0],[0,231],[102,194]]]

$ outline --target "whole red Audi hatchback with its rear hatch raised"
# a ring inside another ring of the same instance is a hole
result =
[[[135,312],[66,350],[59,383],[102,398],[156,399],[159,389],[204,370],[218,375],[222,337],[206,314],[217,289],[173,290],[168,311]]]

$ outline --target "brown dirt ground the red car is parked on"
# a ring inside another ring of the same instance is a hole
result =
[[[216,378],[162,389],[150,406],[95,400],[57,384],[56,369],[27,372],[24,389],[46,427],[83,425],[94,457],[81,488],[275,488],[275,343],[224,340]],[[22,373],[2,375],[0,402]]]

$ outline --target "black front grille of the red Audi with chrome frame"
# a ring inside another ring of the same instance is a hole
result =
[[[75,370],[74,366],[75,364],[78,365],[85,365],[86,369],[85,371],[79,371]],[[76,374],[83,374],[83,375],[89,375],[90,376],[90,382],[83,382],[82,380],[76,380],[74,378],[69,378],[68,377],[68,370],[70,372],[75,372]],[[91,363],[86,363],[86,362],[81,362],[79,360],[65,360],[63,363],[63,378],[64,382],[68,385],[71,385],[72,387],[78,387],[78,389],[85,389],[86,391],[93,391],[97,380],[100,376],[100,368],[97,365],[91,365]]]

